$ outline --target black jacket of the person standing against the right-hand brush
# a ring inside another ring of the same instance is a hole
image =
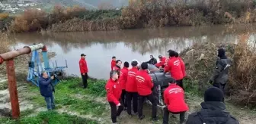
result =
[[[221,57],[216,61],[216,69],[213,71],[213,76],[210,78],[214,83],[226,84],[229,79],[229,67],[231,60],[227,57]]]

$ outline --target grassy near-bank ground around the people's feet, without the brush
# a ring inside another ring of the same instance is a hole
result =
[[[19,82],[19,89],[22,87],[22,91],[19,90],[20,104],[26,101],[26,106],[33,104],[33,107],[23,109],[24,105],[21,105],[21,119],[11,120],[8,117],[2,117],[0,123],[13,124],[13,123],[53,123],[60,124],[62,122],[66,123],[86,123],[86,124],[96,124],[96,123],[110,123],[110,107],[105,98],[105,80],[98,79],[88,79],[88,89],[82,88],[81,79],[72,78],[66,79],[59,82],[56,85],[55,101],[56,110],[46,111],[46,104],[43,97],[40,96],[39,89],[34,86],[24,82]],[[194,111],[200,110],[200,102],[203,98],[194,83],[190,80],[184,81],[186,87],[187,104],[189,104],[190,111],[188,114]],[[8,102],[8,101],[5,101]],[[240,120],[241,123],[251,123],[253,121],[253,116],[256,116],[253,110],[248,110],[247,108],[235,107],[227,102],[227,110],[229,110],[236,118]],[[152,123],[150,121],[151,107],[145,104],[144,113],[146,118],[139,121],[137,116],[130,118],[127,116],[126,111],[122,113],[122,119],[120,123]],[[246,113],[246,116],[245,116]],[[158,109],[158,116],[160,117],[157,124],[162,123],[162,112]],[[251,120],[247,120],[251,118]],[[178,116],[174,118],[170,116],[171,123],[178,123]]]

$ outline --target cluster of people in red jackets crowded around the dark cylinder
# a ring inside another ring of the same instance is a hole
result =
[[[180,120],[184,122],[184,113],[188,110],[188,106],[184,101],[182,83],[182,79],[186,76],[184,62],[181,57],[178,57],[178,52],[169,50],[168,54],[168,59],[159,55],[159,63],[151,55],[151,59],[148,62],[143,62],[140,67],[138,61],[133,60],[130,69],[130,64],[127,61],[123,63],[123,68],[121,69],[122,61],[112,57],[110,79],[107,81],[106,90],[113,123],[117,122],[117,116],[120,116],[123,110],[126,110],[130,117],[138,115],[139,119],[145,118],[142,110],[146,99],[152,103],[152,121],[158,120],[157,101],[152,94],[154,83],[152,82],[152,77],[149,76],[148,64],[163,68],[165,73],[170,72],[171,77],[174,79],[170,80],[170,85],[164,92],[166,107],[163,122],[168,123],[169,113],[180,114]],[[133,114],[131,101],[133,101]]]

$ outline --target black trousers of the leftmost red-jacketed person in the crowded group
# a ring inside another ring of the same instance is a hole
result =
[[[109,102],[110,104],[110,110],[111,110],[111,119],[112,122],[117,122],[117,116],[120,116],[120,114],[123,111],[123,103],[120,101],[120,106],[117,108],[117,105],[114,104],[114,102]]]

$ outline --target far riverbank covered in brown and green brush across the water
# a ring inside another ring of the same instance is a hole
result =
[[[227,23],[254,23],[254,2],[213,1],[195,2],[194,5],[171,4],[155,1],[130,2],[120,10],[89,11],[82,7],[55,6],[46,13],[29,9],[10,19],[2,18],[4,29],[11,33],[38,31],[75,32],[155,28],[165,26],[199,26]],[[12,21],[13,20],[13,21]],[[1,25],[1,24],[0,24]]]

